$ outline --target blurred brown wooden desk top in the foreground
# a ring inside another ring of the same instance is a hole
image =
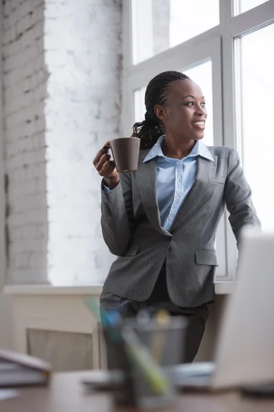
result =
[[[21,389],[20,398],[0,402],[1,412],[133,412],[113,409],[111,397],[83,393],[80,380],[87,372],[54,374],[48,388]],[[163,412],[167,412],[166,409]],[[172,411],[172,410],[170,410]],[[273,412],[274,400],[242,398],[238,393],[185,393],[174,412]],[[159,410],[160,412],[160,410]]]

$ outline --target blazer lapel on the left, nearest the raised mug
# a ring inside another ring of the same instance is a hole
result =
[[[170,235],[168,231],[161,227],[157,202],[157,161],[156,159],[151,159],[144,163],[148,152],[149,150],[144,150],[139,157],[138,170],[135,172],[141,202],[151,225],[160,233]]]

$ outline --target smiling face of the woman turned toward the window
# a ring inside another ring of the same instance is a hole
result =
[[[203,139],[207,111],[205,97],[198,84],[191,80],[176,80],[166,89],[163,106],[155,106],[165,133],[186,140]]]

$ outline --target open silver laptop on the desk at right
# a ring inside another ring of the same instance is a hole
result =
[[[274,233],[242,230],[236,291],[220,323],[214,362],[178,365],[175,376],[190,389],[274,382]]]

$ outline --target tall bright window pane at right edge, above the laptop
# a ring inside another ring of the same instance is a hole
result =
[[[264,230],[274,230],[273,39],[274,24],[240,39],[241,84],[236,85],[242,112],[237,137],[242,138],[244,173]]]

